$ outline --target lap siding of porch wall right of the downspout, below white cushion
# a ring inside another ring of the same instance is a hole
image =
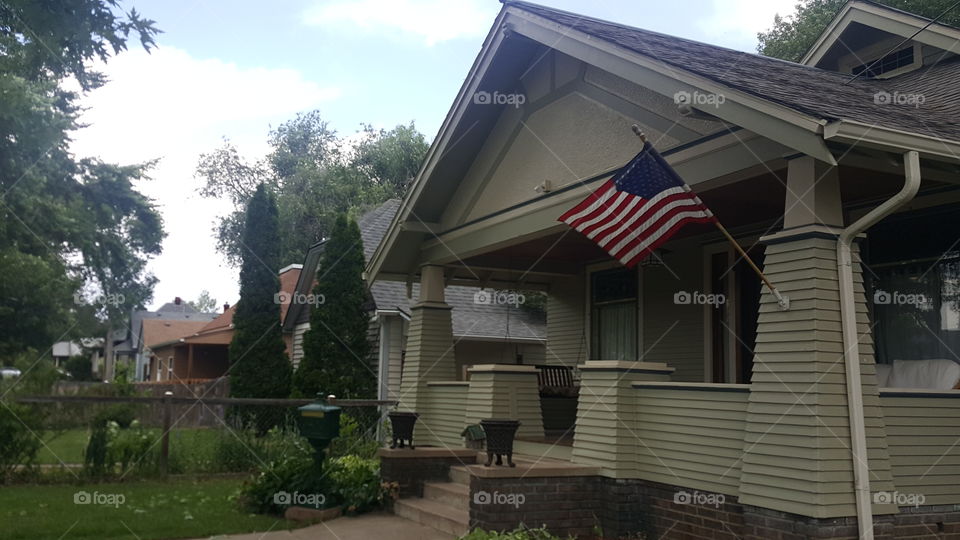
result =
[[[960,504],[960,399],[882,396],[896,490]]]

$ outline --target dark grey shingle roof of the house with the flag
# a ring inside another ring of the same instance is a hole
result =
[[[745,53],[649,30],[584,17],[527,2],[506,0],[564,27],[650,57],[670,69],[705,77],[732,89],[825,120],[847,119],[917,134],[960,140],[956,62],[924,67],[913,76],[858,78],[776,58]],[[923,93],[920,107],[875,103],[880,91]],[[945,114],[948,113],[948,114]]]

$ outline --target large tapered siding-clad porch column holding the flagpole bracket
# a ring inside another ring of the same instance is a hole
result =
[[[839,178],[809,157],[790,161],[787,178],[784,230],[761,241],[764,272],[790,309],[764,287],[739,501],[761,517],[774,510],[849,518],[856,508],[836,259]],[[854,280],[871,491],[893,491],[859,265]],[[875,514],[892,512],[874,505]]]

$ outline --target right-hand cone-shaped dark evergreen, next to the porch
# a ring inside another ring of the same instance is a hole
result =
[[[369,314],[363,281],[363,240],[356,221],[337,217],[320,258],[303,359],[294,375],[299,397],[317,392],[342,398],[370,398],[376,380],[368,364]]]

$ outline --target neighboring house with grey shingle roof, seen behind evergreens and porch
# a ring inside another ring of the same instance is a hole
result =
[[[399,207],[399,200],[389,200],[364,214],[358,221],[364,255],[368,260],[383,240]],[[307,253],[294,299],[308,298],[312,292],[316,280],[311,283],[308,279],[317,273],[323,245],[320,242]],[[410,296],[416,298],[419,285],[411,284],[409,290]],[[454,344],[449,353],[450,358],[456,358],[458,378],[465,378],[466,368],[473,364],[546,363],[544,316],[517,305],[498,304],[493,298],[475,298],[476,292],[476,289],[460,286],[447,287],[446,291],[451,305],[456,307],[452,320]],[[377,373],[380,399],[399,399],[401,367],[413,301],[408,296],[407,284],[395,281],[375,281],[370,286],[370,296],[373,305],[370,306],[369,367]],[[291,306],[284,331],[292,336],[294,365],[299,364],[303,357],[303,334],[309,328],[309,306]]]

